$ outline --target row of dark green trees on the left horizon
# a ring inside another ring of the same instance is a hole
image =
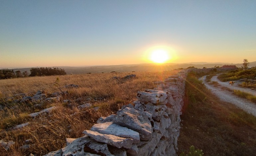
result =
[[[27,71],[21,72],[20,70],[14,71],[10,69],[0,69],[0,79],[22,78],[28,76],[51,76],[51,75],[66,75],[64,69],[61,68],[31,68],[30,75]]]

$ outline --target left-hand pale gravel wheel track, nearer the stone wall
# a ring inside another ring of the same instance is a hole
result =
[[[222,101],[225,101],[225,102],[232,103],[232,104],[236,105],[237,107],[243,109],[247,113],[250,113],[256,117],[256,104],[255,103],[252,103],[247,99],[239,98],[239,97],[233,95],[231,92],[223,91],[220,88],[215,88],[215,87],[209,85],[205,81],[206,76],[203,76],[200,79],[203,80],[203,83],[205,84],[205,86],[208,89],[210,89],[212,91],[212,93],[215,94],[219,99],[221,99]],[[222,85],[222,84],[220,84],[220,85]],[[234,86],[232,86],[232,87],[234,87]]]

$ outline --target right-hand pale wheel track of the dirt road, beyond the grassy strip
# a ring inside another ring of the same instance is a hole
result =
[[[242,87],[238,86],[238,84],[241,83],[239,81],[235,81],[234,85],[231,86],[231,85],[229,85],[228,81],[227,82],[221,82],[217,77],[218,77],[218,75],[213,76],[211,78],[211,81],[217,81],[221,86],[228,87],[232,90],[240,90],[240,91],[243,91],[243,92],[246,92],[246,93],[249,93],[249,94],[252,94],[252,95],[256,96],[256,91],[255,90],[252,90],[250,88],[242,88]]]

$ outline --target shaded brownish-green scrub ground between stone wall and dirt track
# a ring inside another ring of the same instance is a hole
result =
[[[256,117],[216,99],[200,76],[187,77],[178,154],[193,145],[204,155],[255,155]]]

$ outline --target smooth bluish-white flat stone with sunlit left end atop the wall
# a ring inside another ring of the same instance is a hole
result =
[[[102,134],[111,134],[123,138],[131,138],[133,139],[133,143],[140,142],[140,135],[138,132],[112,122],[94,124],[90,130],[97,131]]]

